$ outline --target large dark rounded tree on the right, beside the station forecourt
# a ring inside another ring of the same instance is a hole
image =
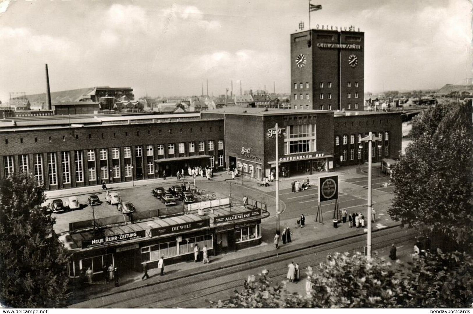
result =
[[[394,167],[395,221],[472,249],[473,128],[467,105],[436,105],[412,122],[413,142]]]

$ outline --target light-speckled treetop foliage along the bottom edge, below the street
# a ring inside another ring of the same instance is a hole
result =
[[[467,307],[473,295],[473,259],[458,252],[428,254],[412,263],[395,263],[361,254],[328,255],[307,275],[307,296],[271,284],[269,274],[249,276],[242,292],[211,304],[214,308],[425,308]]]

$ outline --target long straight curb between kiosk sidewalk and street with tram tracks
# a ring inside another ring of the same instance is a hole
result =
[[[393,228],[400,227],[400,226],[401,226],[401,224],[396,224],[394,226],[388,226],[388,227],[383,228],[383,229],[372,230],[371,232],[374,233],[374,232],[378,232],[378,231],[382,231],[382,230],[393,229]],[[124,290],[113,292],[113,293],[103,294],[103,295],[98,296],[98,297],[89,298],[88,300],[82,301],[82,302],[87,302],[87,301],[94,300],[94,299],[101,298],[101,297],[112,296],[112,295],[117,294],[117,293],[128,292],[128,291],[141,289],[141,288],[145,288],[145,287],[152,287],[152,286],[155,286],[155,285],[161,284],[161,283],[166,283],[166,282],[170,282],[170,281],[174,281],[174,280],[178,280],[178,279],[184,279],[184,278],[188,278],[188,277],[191,277],[191,276],[204,274],[204,273],[207,273],[207,272],[213,272],[213,271],[216,271],[216,270],[222,270],[222,269],[226,269],[226,268],[230,268],[230,267],[235,267],[235,266],[238,266],[242,263],[247,263],[249,261],[251,261],[251,262],[261,261],[263,259],[271,258],[271,257],[274,257],[274,256],[293,253],[293,252],[296,252],[300,249],[307,249],[307,248],[312,248],[312,247],[316,247],[316,246],[323,246],[323,245],[331,244],[331,243],[334,243],[334,242],[337,242],[337,241],[342,241],[342,240],[346,240],[346,239],[350,239],[350,238],[356,238],[356,237],[360,237],[360,236],[364,236],[364,235],[365,235],[365,233],[363,232],[362,234],[356,234],[356,235],[345,236],[345,237],[342,237],[342,238],[330,239],[330,240],[326,240],[324,242],[320,242],[320,243],[317,243],[317,244],[310,244],[308,246],[307,246],[307,244],[310,243],[310,242],[301,243],[296,247],[291,247],[290,249],[287,249],[287,250],[284,250],[284,251],[277,251],[277,252],[274,252],[274,253],[270,253],[269,255],[260,256],[260,257],[256,257],[256,258],[252,258],[252,257],[257,255],[257,254],[247,255],[247,256],[242,258],[243,260],[238,259],[239,260],[238,262],[229,263],[227,265],[218,266],[218,267],[212,268],[212,269],[206,269],[206,270],[201,270],[201,271],[197,271],[197,272],[188,273],[188,274],[184,274],[182,276],[175,276],[172,279],[169,278],[169,279],[166,279],[166,280],[160,280],[160,281],[149,283],[149,284],[143,284],[143,285],[140,285],[139,287],[133,287],[133,288],[124,289]],[[79,302],[79,303],[82,303],[82,302]]]

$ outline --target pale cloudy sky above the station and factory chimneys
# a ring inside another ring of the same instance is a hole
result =
[[[365,32],[365,92],[472,77],[471,0],[312,0],[311,26]],[[0,0],[0,100],[93,86],[135,97],[290,92],[289,35],[307,0]],[[229,92],[228,92],[229,93]]]

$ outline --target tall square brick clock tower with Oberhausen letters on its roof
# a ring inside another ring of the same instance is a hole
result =
[[[291,106],[363,110],[364,33],[326,27],[290,36]]]

